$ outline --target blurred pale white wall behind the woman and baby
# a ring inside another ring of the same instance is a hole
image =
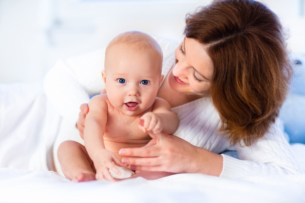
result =
[[[185,14],[210,0],[0,0],[0,82],[41,82],[57,59],[105,46],[126,30],[182,38]],[[305,0],[263,0],[305,53]],[[303,12],[303,13],[302,13]]]

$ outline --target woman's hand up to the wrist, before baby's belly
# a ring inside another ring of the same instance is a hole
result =
[[[121,148],[121,162],[132,170],[188,172],[196,154],[194,146],[174,135],[149,132],[152,140],[142,148]]]

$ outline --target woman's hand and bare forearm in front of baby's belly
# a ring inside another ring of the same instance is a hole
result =
[[[142,148],[121,148],[121,162],[132,170],[203,173],[219,176],[221,155],[198,148],[174,135],[149,132],[152,140]]]

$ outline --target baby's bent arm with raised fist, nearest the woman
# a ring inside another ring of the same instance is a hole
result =
[[[171,111],[171,106],[166,100],[156,98],[152,112],[147,112],[141,116],[139,125],[140,128],[145,131],[172,134],[178,128],[179,119],[178,116]]]

